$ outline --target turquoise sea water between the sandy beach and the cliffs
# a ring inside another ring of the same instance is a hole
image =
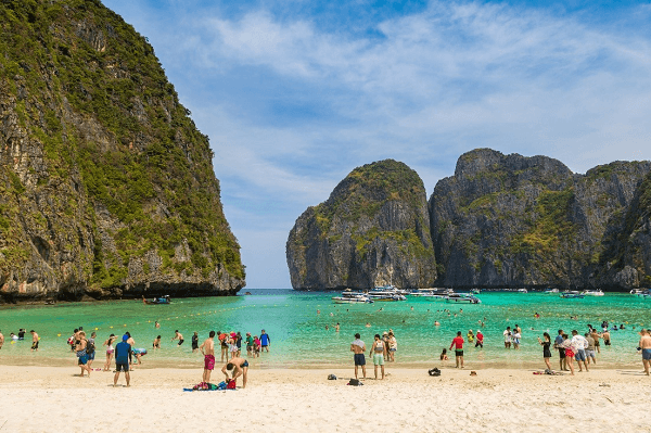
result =
[[[252,359],[258,367],[319,367],[352,364],[349,343],[356,332],[370,347],[375,333],[393,329],[398,341],[396,366],[439,365],[438,355],[449,347],[457,331],[476,332],[480,321],[485,335],[484,349],[465,347],[465,364],[470,367],[524,367],[542,365],[542,349],[537,336],[548,331],[552,339],[557,330],[576,329],[584,333],[587,324],[599,327],[608,320],[611,327],[624,323],[625,330],[611,331],[613,345],[601,346],[598,360],[613,365],[639,364],[636,353],[641,327],[651,327],[651,301],[629,294],[605,294],[602,297],[561,300],[558,294],[485,292],[480,305],[459,305],[408,297],[407,302],[371,305],[337,305],[331,302],[335,293],[305,293],[291,290],[250,290],[253,295],[175,300],[171,305],[143,305],[140,301],[59,304],[54,306],[0,307],[0,331],[5,344],[0,351],[2,364],[71,365],[66,340],[74,328],[98,333],[95,367],[103,362],[101,343],[111,333],[130,331],[136,347],[150,353],[143,358],[146,367],[197,367],[201,354],[191,353],[191,336],[199,332],[200,343],[210,330],[240,331],[258,334],[265,329],[271,336],[270,353]],[[382,308],[381,311],[378,311]],[[413,308],[413,309],[412,309]],[[443,309],[450,309],[450,315]],[[462,309],[462,311],[460,311]],[[320,314],[317,314],[320,310]],[[539,319],[534,314],[540,314]],[[457,317],[455,317],[455,314]],[[577,316],[574,320],[571,316]],[[154,321],[161,329],[154,328]],[[434,322],[438,320],[439,327]],[[334,323],[341,331],[334,331]],[[367,328],[366,323],[371,327]],[[523,330],[520,351],[503,348],[502,332],[507,326],[520,324]],[[330,329],[326,330],[326,326]],[[634,329],[635,327],[635,329]],[[31,353],[30,334],[13,343],[10,332],[18,328],[36,330],[40,338],[38,353]],[[177,347],[170,342],[178,329],[186,343]],[[162,335],[162,349],[153,353],[152,341]],[[245,356],[245,349],[244,354]],[[552,362],[558,364],[556,353]],[[219,357],[218,357],[219,359]],[[454,360],[451,361],[454,364]]]

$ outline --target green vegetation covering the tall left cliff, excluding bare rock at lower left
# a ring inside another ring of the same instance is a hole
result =
[[[208,139],[179,103],[146,38],[99,0],[2,1],[0,29],[0,95],[27,140],[42,147],[44,164],[35,169],[29,162],[22,175],[36,178],[29,187],[9,167],[0,175],[14,191],[37,195],[73,179],[90,203],[81,209],[94,239],[90,283],[124,284],[129,260],[149,251],[158,252],[167,273],[207,277],[220,266],[243,280]],[[76,214],[81,202],[71,200],[66,212]],[[100,240],[101,208],[116,221],[111,249]],[[20,247],[4,227],[17,224],[14,214],[0,215],[5,271],[16,256],[8,252]],[[183,242],[190,260],[173,259]]]

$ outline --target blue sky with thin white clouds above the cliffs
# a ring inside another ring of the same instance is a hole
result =
[[[429,198],[477,148],[651,160],[648,1],[102,1],[209,137],[247,288],[291,288],[296,218],[363,164]]]

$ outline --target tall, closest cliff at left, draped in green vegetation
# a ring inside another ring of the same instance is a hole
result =
[[[208,140],[99,0],[0,3],[0,301],[234,293]]]

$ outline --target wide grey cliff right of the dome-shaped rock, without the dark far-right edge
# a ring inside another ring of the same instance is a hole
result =
[[[631,271],[623,263],[608,277],[601,269],[605,244],[612,244],[609,233],[622,226],[650,170],[648,162],[615,162],[575,175],[545,156],[485,149],[462,155],[455,176],[442,179],[430,199],[438,282],[630,285]],[[642,225],[643,217],[638,219]],[[634,238],[630,242],[642,240]]]

